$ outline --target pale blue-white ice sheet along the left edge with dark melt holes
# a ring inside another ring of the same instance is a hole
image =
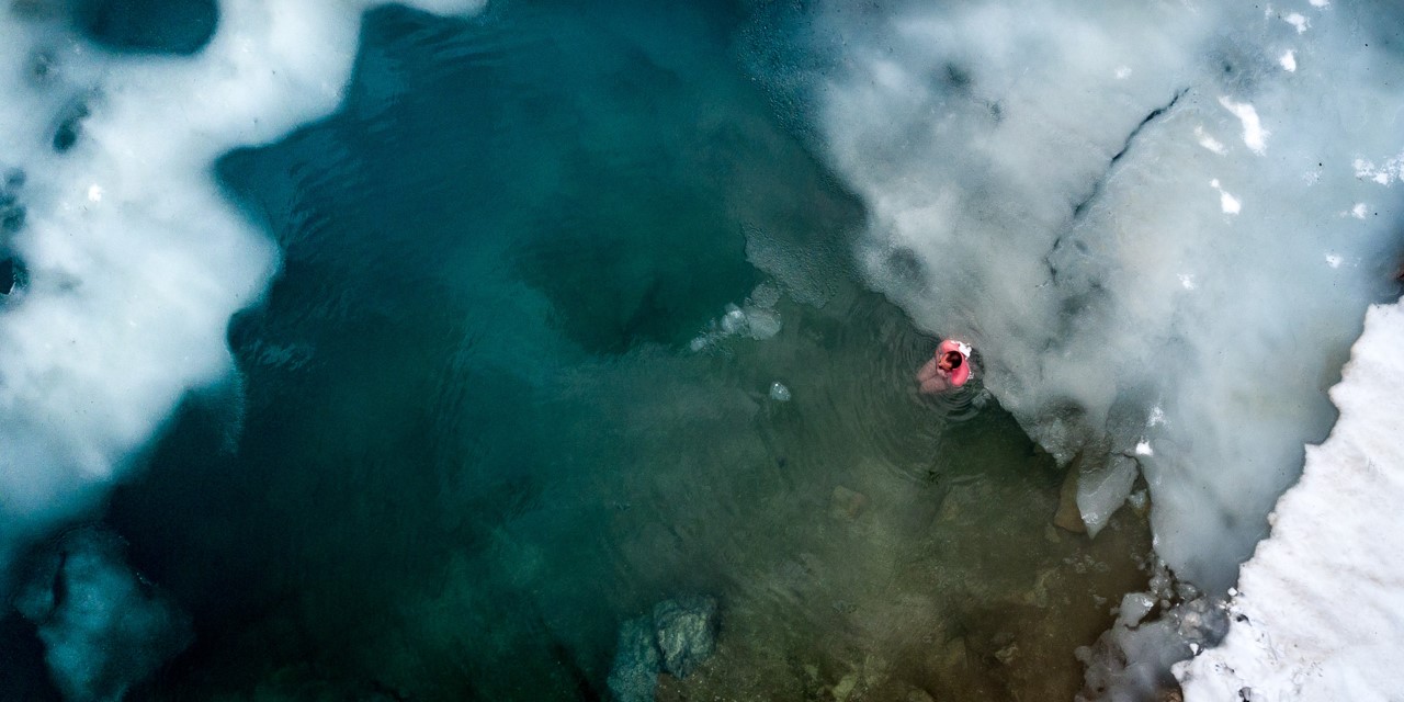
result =
[[[229,0],[194,58],[108,53],[18,6],[0,18],[0,170],[24,174],[0,241],[24,271],[0,306],[0,566],[232,372],[225,329],[277,251],[212,163],[337,105],[369,4]]]

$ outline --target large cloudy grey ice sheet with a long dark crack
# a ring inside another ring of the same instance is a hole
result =
[[[869,284],[981,348],[987,388],[1081,472],[1090,526],[1133,456],[1160,556],[1224,591],[1393,289],[1404,65],[1362,27],[1400,8],[828,7],[817,142],[868,206]],[[1379,215],[1339,216],[1356,202]]]

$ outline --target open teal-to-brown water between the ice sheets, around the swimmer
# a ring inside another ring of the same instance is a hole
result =
[[[220,160],[284,265],[111,500],[197,629],[135,698],[607,699],[678,592],[719,650],[660,699],[1071,696],[1144,519],[1053,528],[979,383],[915,393],[936,340],[849,270],[755,21],[375,11],[337,115]],[[772,337],[720,331],[747,300]]]

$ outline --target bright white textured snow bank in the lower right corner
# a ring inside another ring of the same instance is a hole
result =
[[[1400,699],[1404,305],[1372,307],[1272,538],[1243,566],[1217,647],[1175,668],[1189,702]]]

